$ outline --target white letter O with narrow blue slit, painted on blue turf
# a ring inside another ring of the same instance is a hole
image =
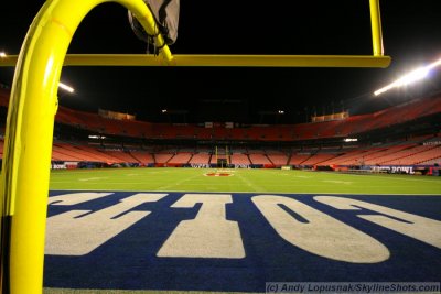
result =
[[[273,195],[251,199],[280,237],[308,252],[353,263],[375,263],[389,258],[389,250],[370,236],[301,202]],[[297,220],[280,205],[308,222]]]

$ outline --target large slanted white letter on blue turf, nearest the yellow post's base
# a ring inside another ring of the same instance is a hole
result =
[[[71,210],[47,218],[45,253],[53,255],[84,255],[129,228],[150,211],[130,211],[143,203],[158,202],[168,194],[136,194],[120,203],[90,213]],[[114,218],[119,216],[117,218]]]

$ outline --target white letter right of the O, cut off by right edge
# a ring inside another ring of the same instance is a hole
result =
[[[362,207],[379,213],[384,216],[359,215],[358,217],[397,231],[399,233],[418,239],[431,246],[441,248],[441,221],[439,220],[420,217],[385,206],[351,198],[315,196],[314,199],[337,209],[359,210],[359,207]],[[388,216],[401,219],[402,221],[398,219],[392,219]]]

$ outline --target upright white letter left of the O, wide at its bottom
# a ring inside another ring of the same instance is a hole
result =
[[[228,194],[185,194],[173,208],[191,208],[202,203],[192,220],[183,220],[158,251],[161,258],[245,258],[237,221],[226,219]]]

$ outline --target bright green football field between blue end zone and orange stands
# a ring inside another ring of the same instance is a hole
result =
[[[216,172],[229,176],[207,175]],[[53,171],[50,189],[441,195],[441,178],[283,170],[104,168]]]

